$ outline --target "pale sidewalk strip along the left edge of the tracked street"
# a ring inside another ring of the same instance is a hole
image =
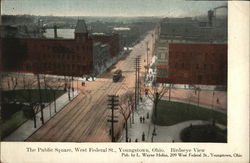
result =
[[[79,95],[78,91],[74,92],[74,98]],[[72,101],[72,93],[71,93],[71,100]],[[56,100],[56,111],[57,113],[62,110],[69,102],[68,93],[63,94]],[[43,117],[44,117],[44,123],[49,121],[53,116],[55,115],[54,110],[54,103],[51,103],[51,112],[49,109],[49,105],[47,105],[43,109]],[[11,133],[9,136],[5,137],[3,141],[25,141],[30,135],[32,135],[35,131],[37,131],[41,126],[41,112],[38,112],[36,114],[36,128],[34,128],[34,121],[27,120],[25,123],[23,123],[19,128],[17,128],[13,133]]]

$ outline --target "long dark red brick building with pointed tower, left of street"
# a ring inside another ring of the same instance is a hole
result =
[[[109,44],[111,55],[119,52],[116,35],[89,36],[84,20],[78,20],[74,39],[5,38],[1,41],[4,71],[82,76],[92,74],[94,40]]]

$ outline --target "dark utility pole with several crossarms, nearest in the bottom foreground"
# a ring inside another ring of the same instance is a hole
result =
[[[112,142],[115,142],[115,136],[114,136],[114,123],[117,123],[118,120],[115,120],[115,117],[114,116],[114,110],[117,110],[117,106],[119,105],[119,99],[118,99],[118,96],[116,95],[108,95],[108,106],[109,106],[109,109],[111,109],[111,119],[108,119],[108,122],[111,122],[111,137],[112,137]]]

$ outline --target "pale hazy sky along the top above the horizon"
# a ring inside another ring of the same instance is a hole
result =
[[[190,0],[2,0],[5,15],[53,16],[162,16],[205,15],[225,1]],[[225,14],[226,9],[218,12]]]

